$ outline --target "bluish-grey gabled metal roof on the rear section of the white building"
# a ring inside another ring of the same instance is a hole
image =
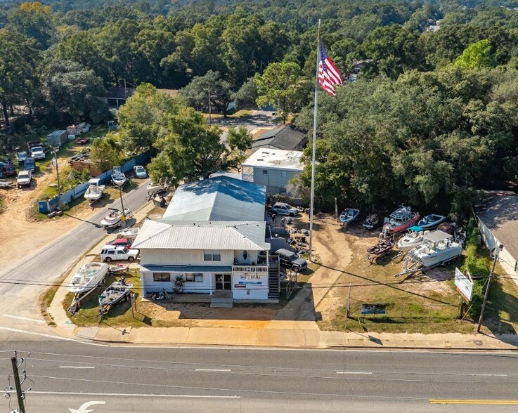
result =
[[[165,211],[167,221],[264,221],[266,187],[228,176],[179,186]]]

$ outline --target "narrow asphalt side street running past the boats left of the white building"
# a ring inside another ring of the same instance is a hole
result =
[[[145,181],[139,188],[125,195],[124,206],[131,211],[140,209],[146,202],[147,184],[148,181]],[[69,270],[78,257],[106,235],[100,223],[108,214],[109,207],[119,208],[119,199],[96,211],[89,221],[82,221],[52,244],[0,270],[0,326],[38,329],[43,318],[37,306],[37,298],[52,282]],[[30,246],[20,245],[20,249],[22,248]]]

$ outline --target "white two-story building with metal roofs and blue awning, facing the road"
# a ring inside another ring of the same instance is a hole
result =
[[[278,299],[278,272],[269,272],[264,186],[226,176],[181,185],[160,222],[146,220],[133,244],[141,251],[144,294],[173,291],[234,300]]]

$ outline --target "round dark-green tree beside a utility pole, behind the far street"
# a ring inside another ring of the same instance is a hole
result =
[[[226,117],[228,104],[232,102],[231,84],[221,79],[218,72],[209,70],[205,76],[194,77],[181,90],[181,96],[189,106],[198,109],[207,107],[210,96],[210,104]]]

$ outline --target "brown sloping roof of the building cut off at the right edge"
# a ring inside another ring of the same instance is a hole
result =
[[[477,216],[518,260],[518,196],[510,193],[494,195],[479,207]]]

